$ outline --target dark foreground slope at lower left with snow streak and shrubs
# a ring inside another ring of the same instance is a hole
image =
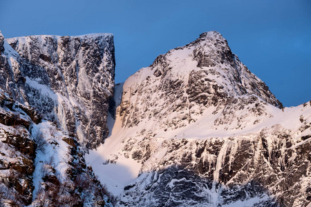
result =
[[[2,92],[0,103],[1,206],[111,205],[75,137]]]

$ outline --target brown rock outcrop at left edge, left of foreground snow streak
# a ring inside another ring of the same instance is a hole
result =
[[[36,143],[28,130],[39,119],[35,110],[2,91],[0,103],[0,203],[30,204]]]

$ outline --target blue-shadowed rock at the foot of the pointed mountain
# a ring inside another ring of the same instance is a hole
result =
[[[279,206],[261,184],[250,181],[227,188],[182,166],[140,175],[140,181],[126,186],[121,206],[224,206],[252,200],[249,206]],[[243,204],[241,204],[243,205]]]

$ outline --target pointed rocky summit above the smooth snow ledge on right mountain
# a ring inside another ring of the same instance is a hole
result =
[[[240,101],[245,106],[254,99],[258,106],[263,101],[282,107],[265,83],[232,53],[221,34],[213,31],[159,55],[151,66],[129,77],[120,115],[128,126],[153,119],[160,128],[180,128],[211,106],[219,110]]]

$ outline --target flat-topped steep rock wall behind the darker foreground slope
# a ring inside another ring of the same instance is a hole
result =
[[[103,143],[114,89],[113,35],[39,35],[6,41],[12,48],[3,51],[8,57],[1,63],[3,88],[77,135],[87,148]]]

